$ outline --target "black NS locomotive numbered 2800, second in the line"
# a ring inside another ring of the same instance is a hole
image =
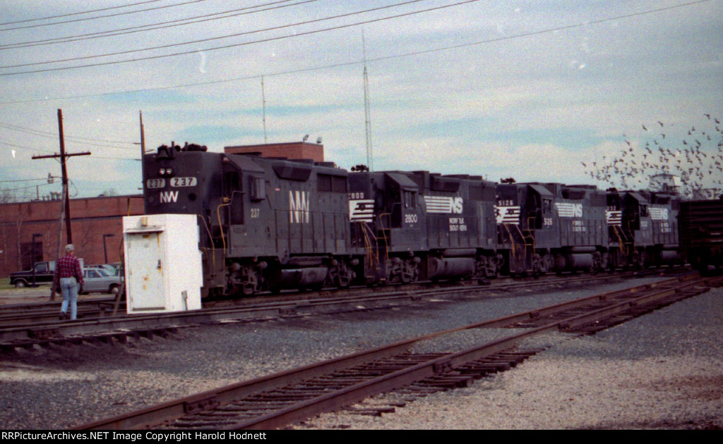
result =
[[[499,274],[494,183],[427,171],[349,173],[348,183],[367,284]]]

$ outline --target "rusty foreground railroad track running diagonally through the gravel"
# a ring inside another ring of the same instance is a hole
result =
[[[322,412],[349,409],[352,404],[377,393],[401,390],[422,396],[466,386],[539,352],[539,349],[519,349],[531,336],[550,331],[591,334],[721,284],[721,277],[690,275],[606,292],[236,383],[78,428],[268,430],[286,427]],[[414,347],[424,341],[462,330],[500,327],[523,327],[524,331],[468,349],[414,353]],[[389,412],[394,408],[374,406],[359,412]]]

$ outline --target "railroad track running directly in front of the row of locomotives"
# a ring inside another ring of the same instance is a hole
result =
[[[674,270],[676,273],[690,271]],[[660,274],[661,271],[650,271]],[[641,276],[640,273],[615,274],[614,277]],[[15,352],[18,349],[53,347],[61,344],[91,344],[126,342],[140,337],[153,338],[167,336],[178,328],[200,326],[208,323],[259,321],[274,318],[339,313],[353,310],[373,310],[388,308],[406,303],[416,303],[429,298],[475,295],[475,297],[495,292],[532,290],[539,287],[554,287],[574,284],[607,282],[609,274],[555,277],[539,279],[499,279],[492,284],[419,284],[397,287],[355,289],[334,292],[288,293],[281,296],[254,297],[240,300],[219,301],[202,310],[182,313],[153,313],[148,315],[108,315],[103,302],[92,302],[86,308],[79,306],[79,318],[76,321],[59,321],[53,308],[43,308],[43,313],[35,312],[27,318],[13,315],[3,318],[0,312],[0,353]],[[57,310],[58,302],[53,304]],[[105,306],[113,305],[108,300]],[[35,305],[34,305],[35,307]],[[37,310],[37,308],[33,308]],[[51,310],[48,312],[47,310]],[[43,317],[44,316],[44,317]]]

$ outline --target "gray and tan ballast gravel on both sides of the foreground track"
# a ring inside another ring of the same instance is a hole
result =
[[[429,300],[418,305],[184,328],[128,344],[0,355],[0,428],[59,430],[360,349],[655,279],[574,290]],[[509,331],[465,331],[419,351]],[[548,334],[518,367],[394,413],[322,414],[308,429],[722,429],[723,289],[592,336]],[[359,406],[398,401],[396,393]]]

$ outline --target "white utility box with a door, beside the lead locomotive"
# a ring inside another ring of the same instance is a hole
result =
[[[201,308],[203,285],[195,214],[123,218],[127,313]]]

